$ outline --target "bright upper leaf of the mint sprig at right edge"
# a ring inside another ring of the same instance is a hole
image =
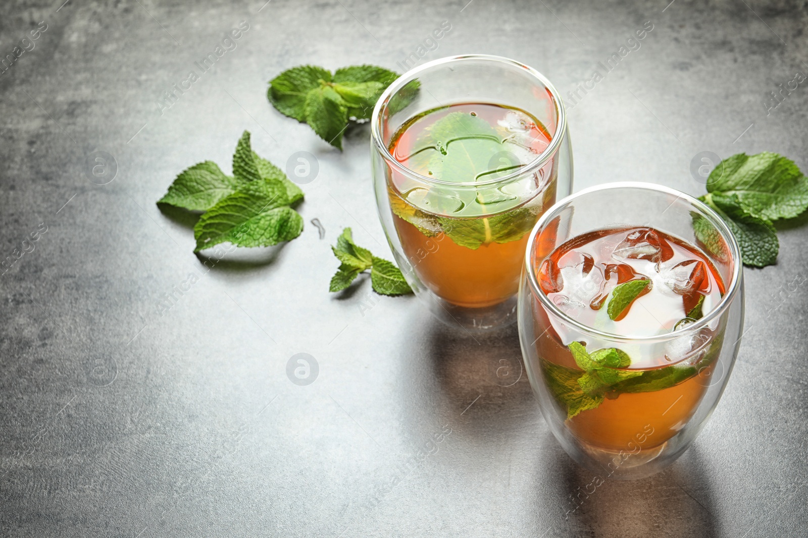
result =
[[[792,219],[808,208],[808,178],[776,153],[730,156],[707,179],[707,192],[735,195],[760,219]]]

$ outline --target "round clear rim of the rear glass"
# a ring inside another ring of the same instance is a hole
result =
[[[556,122],[556,128],[553,131],[552,135],[550,136],[550,144],[545,148],[545,151],[541,152],[539,156],[537,156],[534,160],[530,161],[527,165],[524,165],[519,170],[515,172],[507,174],[507,176],[497,177],[495,179],[490,179],[486,181],[464,181],[464,182],[455,182],[455,181],[443,181],[437,179],[435,177],[427,177],[423,176],[419,173],[413,172],[412,170],[406,168],[406,166],[402,165],[399,161],[397,161],[389,151],[389,148],[384,143],[384,140],[381,135],[381,115],[382,112],[385,111],[387,105],[389,103],[390,98],[401,90],[405,85],[409,84],[410,81],[415,80],[420,73],[427,71],[437,65],[444,65],[444,64],[452,64],[456,62],[468,61],[468,60],[484,60],[490,61],[494,64],[503,64],[503,65],[510,65],[512,67],[516,67],[518,69],[523,69],[527,73],[529,73],[532,77],[536,78],[537,81],[541,82],[542,85],[545,86],[545,89],[549,91],[550,97],[553,100],[553,105],[555,106],[556,113],[558,115],[558,121]],[[504,56],[494,56],[490,54],[461,54],[457,56],[446,56],[444,58],[439,58],[437,60],[428,61],[423,65],[419,65],[410,69],[406,73],[403,73],[401,77],[398,77],[395,81],[393,81],[385,91],[381,94],[381,97],[376,102],[376,106],[373,107],[373,114],[370,119],[370,132],[371,132],[371,140],[372,144],[376,146],[377,151],[381,153],[381,156],[388,162],[396,172],[401,173],[406,177],[413,178],[417,181],[421,181],[424,183],[432,184],[432,185],[448,185],[448,186],[487,186],[487,185],[496,185],[499,183],[507,182],[515,180],[516,178],[523,177],[528,175],[529,173],[535,173],[538,169],[541,169],[547,161],[558,151],[558,148],[561,147],[562,141],[566,137],[566,108],[564,106],[564,102],[561,98],[561,94],[558,93],[558,90],[555,89],[555,86],[547,80],[547,78],[539,73],[536,69],[528,65],[524,65],[516,60],[511,60],[510,58],[506,58]]]

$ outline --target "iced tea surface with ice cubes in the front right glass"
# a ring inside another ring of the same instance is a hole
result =
[[[548,256],[537,276],[559,310],[587,327],[621,336],[671,332],[677,323],[707,315],[724,294],[718,271],[698,248],[648,227],[576,237]],[[633,281],[647,285],[612,319],[612,294]]]

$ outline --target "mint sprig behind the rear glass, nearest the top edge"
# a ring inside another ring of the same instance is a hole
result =
[[[376,65],[352,65],[332,75],[317,65],[287,69],[269,82],[267,98],[277,111],[308,123],[340,150],[349,121],[370,119],[381,93],[398,73]]]

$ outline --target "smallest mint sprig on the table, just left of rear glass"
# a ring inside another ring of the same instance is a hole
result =
[[[370,282],[377,294],[403,295],[412,293],[410,285],[395,264],[377,256],[373,256],[367,248],[362,248],[353,241],[351,228],[345,228],[337,238],[337,244],[331,247],[334,256],[340,262],[339,269],[331,278],[329,291],[342,291],[354,282],[360,273],[370,269]]]

